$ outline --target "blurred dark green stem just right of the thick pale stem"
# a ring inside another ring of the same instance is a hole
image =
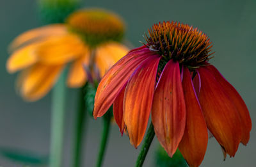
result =
[[[74,156],[72,166],[81,166],[81,157],[83,155],[83,143],[84,143],[84,128],[86,124],[87,114],[85,111],[84,102],[84,86],[79,90],[77,115],[76,115],[76,127],[75,127],[75,139],[74,139]]]

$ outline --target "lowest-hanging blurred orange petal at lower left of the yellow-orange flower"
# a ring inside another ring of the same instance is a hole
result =
[[[29,101],[42,98],[51,90],[56,83],[63,66],[50,67],[47,65],[36,64],[20,74],[20,86],[22,97]]]

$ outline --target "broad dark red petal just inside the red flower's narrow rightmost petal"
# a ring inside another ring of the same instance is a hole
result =
[[[207,127],[227,154],[234,156],[241,141],[241,121],[237,109],[207,68],[200,67],[198,72],[201,78],[198,99]]]

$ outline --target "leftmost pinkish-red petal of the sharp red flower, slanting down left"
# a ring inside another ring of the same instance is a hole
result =
[[[124,84],[127,83],[132,72],[134,72],[148,56],[152,56],[152,52],[147,48],[130,52],[108,70],[100,81],[95,95],[93,109],[93,117],[95,119],[108,111]]]

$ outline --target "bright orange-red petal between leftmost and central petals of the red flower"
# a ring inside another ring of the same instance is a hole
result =
[[[135,148],[140,145],[147,129],[160,58],[158,55],[148,57],[134,71],[125,89],[124,122]]]

